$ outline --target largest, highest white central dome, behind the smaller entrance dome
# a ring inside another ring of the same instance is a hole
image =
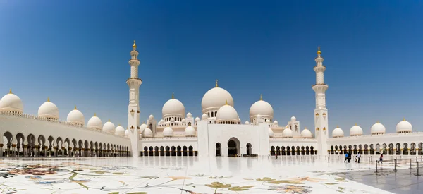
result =
[[[228,91],[221,87],[210,89],[201,100],[202,113],[206,113],[211,109],[219,109],[219,107],[225,105],[225,101],[228,101],[228,104],[233,107],[233,98]]]

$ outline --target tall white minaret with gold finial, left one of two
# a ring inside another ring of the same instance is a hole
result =
[[[140,138],[140,132],[138,128],[140,126],[140,85],[142,80],[138,78],[138,66],[140,65],[140,60],[138,60],[138,51],[137,45],[133,44],[133,50],[130,51],[130,78],[126,80],[126,83],[129,86],[129,105],[128,105],[128,128],[130,134],[131,152],[134,157],[138,157],[138,140]]]

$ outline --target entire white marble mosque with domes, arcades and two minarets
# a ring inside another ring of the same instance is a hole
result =
[[[324,71],[320,48],[314,59],[316,93],[314,133],[300,129],[292,116],[286,125],[274,120],[274,109],[262,99],[250,107],[249,121],[241,121],[234,99],[227,90],[215,87],[202,97],[202,116],[193,117],[182,102],[171,99],[164,103],[161,119],[150,115],[140,124],[137,46],[130,51],[128,125],[103,123],[94,114],[87,123],[75,107],[67,120],[59,120],[59,109],[53,102],[41,104],[37,115],[24,113],[22,100],[12,92],[0,99],[0,157],[190,157],[271,155],[328,155],[352,152],[375,155],[423,155],[423,132],[412,132],[403,119],[396,133],[386,134],[377,122],[364,135],[360,126],[352,126],[350,135],[337,127],[329,136],[329,111],[326,108]],[[142,105],[142,104],[141,104]],[[141,106],[142,107],[142,106]],[[310,113],[311,117],[311,113]]]

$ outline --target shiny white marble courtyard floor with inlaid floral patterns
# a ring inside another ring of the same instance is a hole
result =
[[[417,192],[410,164],[382,165],[375,174],[374,162],[341,156],[0,159],[0,193]]]

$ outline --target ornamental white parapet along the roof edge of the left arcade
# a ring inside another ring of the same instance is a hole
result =
[[[25,119],[35,119],[35,120],[38,120],[38,121],[47,121],[47,122],[50,122],[50,123],[59,123],[61,125],[72,126],[72,127],[75,127],[75,128],[82,128],[82,129],[85,129],[85,130],[95,131],[97,133],[103,133],[104,135],[112,135],[112,136],[117,137],[117,138],[125,138],[121,135],[114,135],[114,133],[106,133],[106,132],[101,131],[101,130],[87,128],[85,126],[79,126],[79,125],[74,124],[74,123],[69,123],[68,121],[61,121],[61,120],[57,120],[57,119],[47,119],[45,117],[39,117],[39,116],[31,115],[31,114],[13,114],[13,113],[8,112],[8,111],[0,111],[0,115],[16,116],[16,117],[22,117],[22,118],[25,118]],[[125,138],[125,139],[129,139],[129,138]]]

